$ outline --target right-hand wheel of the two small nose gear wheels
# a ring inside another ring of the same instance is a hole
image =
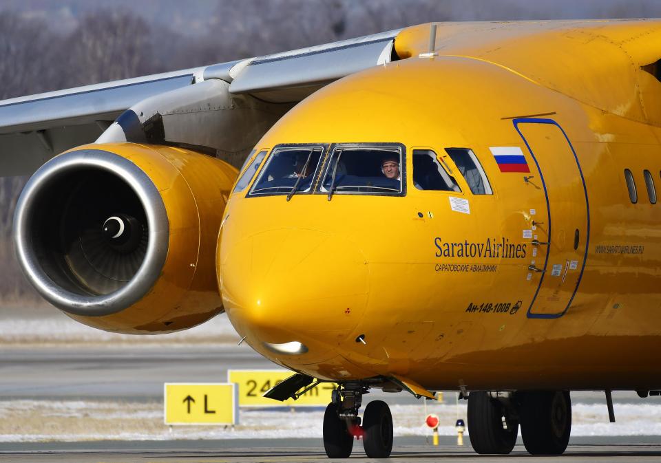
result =
[[[388,458],[392,451],[392,415],[382,400],[368,403],[363,415],[363,446],[368,458]]]

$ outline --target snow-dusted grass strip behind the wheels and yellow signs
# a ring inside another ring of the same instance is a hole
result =
[[[395,436],[431,435],[423,424],[422,405],[392,405]],[[457,435],[457,416],[465,420],[465,402],[430,404],[441,420],[439,434]],[[0,442],[81,440],[197,440],[238,438],[322,438],[321,408],[242,409],[235,427],[163,423],[160,402],[112,400],[0,401]],[[608,422],[605,405],[574,403],[573,436],[661,435],[661,405],[618,404],[617,423]]]

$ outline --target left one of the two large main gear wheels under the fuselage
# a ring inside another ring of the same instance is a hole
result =
[[[484,391],[468,396],[468,435],[477,453],[510,453],[518,435],[518,421],[510,418],[503,402]]]

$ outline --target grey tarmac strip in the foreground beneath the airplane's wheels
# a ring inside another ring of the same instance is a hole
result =
[[[613,439],[574,439],[562,457],[534,457],[517,444],[510,455],[476,455],[468,442],[463,447],[443,438],[441,445],[430,446],[423,438],[401,438],[396,442],[389,460],[393,463],[474,462],[534,463],[562,461],[578,462],[658,462],[661,460],[661,439],[655,436]],[[601,442],[599,442],[601,441]],[[8,449],[8,446],[11,448]],[[360,442],[356,442],[350,460],[329,460],[319,440],[204,440],[171,442],[92,442],[61,444],[0,444],[3,463],[67,462],[67,463],[256,463],[256,462],[373,462],[366,458]]]

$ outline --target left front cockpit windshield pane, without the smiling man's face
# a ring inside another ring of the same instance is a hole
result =
[[[310,193],[324,147],[276,147],[250,191],[251,196]]]

